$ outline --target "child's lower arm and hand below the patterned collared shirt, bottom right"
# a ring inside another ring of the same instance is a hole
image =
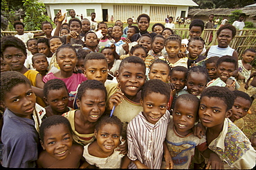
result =
[[[222,160],[209,148],[201,153],[205,158],[208,158],[205,169],[224,169]]]

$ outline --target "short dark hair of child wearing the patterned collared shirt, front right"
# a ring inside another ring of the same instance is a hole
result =
[[[201,99],[203,97],[208,97],[208,98],[219,98],[223,100],[223,102],[226,104],[228,111],[229,109],[232,109],[232,106],[234,105],[235,101],[235,94],[228,89],[228,87],[219,87],[219,86],[212,86],[208,87],[203,90],[201,93]]]

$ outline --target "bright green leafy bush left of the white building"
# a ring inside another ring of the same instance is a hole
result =
[[[46,12],[44,3],[38,0],[24,0],[23,2],[26,14],[24,18],[25,30],[42,30],[43,21],[49,21],[53,24],[51,19],[44,14]]]

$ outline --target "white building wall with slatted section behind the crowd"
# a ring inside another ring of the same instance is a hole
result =
[[[185,17],[188,17],[188,6],[153,6],[153,5],[122,5],[122,4],[46,4],[48,15],[53,19],[57,10],[62,10],[62,13],[67,10],[74,9],[79,16],[82,14],[84,18],[91,19],[91,16],[86,16],[86,9],[95,9],[95,21],[103,21],[102,9],[107,9],[108,21],[111,21],[113,15],[114,21],[120,19],[126,22],[128,18],[134,17],[137,19],[139,14],[148,14],[151,22],[164,22],[167,14],[172,17],[180,17],[181,11],[185,11]],[[72,6],[72,7],[71,7]]]

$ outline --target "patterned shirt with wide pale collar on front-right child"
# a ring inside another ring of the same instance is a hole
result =
[[[225,169],[252,169],[256,152],[250,140],[231,120],[225,118],[219,136],[210,142],[209,149],[217,153]]]

